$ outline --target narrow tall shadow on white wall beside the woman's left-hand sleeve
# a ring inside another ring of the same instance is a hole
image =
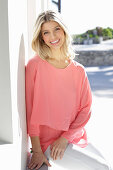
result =
[[[21,35],[18,76],[17,76],[17,103],[19,120],[19,137],[21,140],[21,170],[26,169],[27,160],[27,133],[26,133],[26,107],[25,107],[25,46],[24,37]]]

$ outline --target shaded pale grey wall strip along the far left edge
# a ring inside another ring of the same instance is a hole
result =
[[[11,143],[12,114],[9,65],[8,4],[0,1],[0,143]],[[4,9],[4,10],[3,10]]]

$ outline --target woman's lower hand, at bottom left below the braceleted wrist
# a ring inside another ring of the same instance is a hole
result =
[[[34,168],[39,169],[43,163],[45,163],[49,167],[51,166],[42,151],[34,152],[32,155],[31,161],[28,165],[28,168],[29,169],[34,169]]]

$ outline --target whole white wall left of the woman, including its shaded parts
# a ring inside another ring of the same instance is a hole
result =
[[[0,0],[0,169],[3,170],[26,169],[27,5],[27,0]]]

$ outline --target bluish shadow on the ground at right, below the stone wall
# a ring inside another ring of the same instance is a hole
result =
[[[98,67],[97,71],[88,71],[91,89],[96,96],[113,98],[113,67]]]

